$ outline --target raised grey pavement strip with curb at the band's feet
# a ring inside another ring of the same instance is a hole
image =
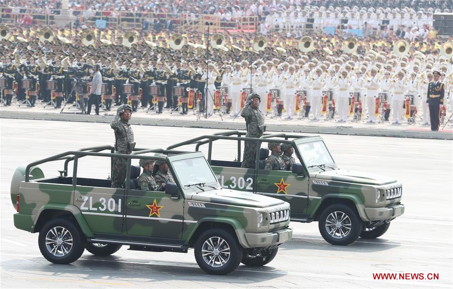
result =
[[[51,106],[43,107],[37,105],[29,108],[24,105],[18,107],[0,107],[0,117],[2,118],[20,118],[20,119],[40,119],[40,120],[65,120],[79,122],[110,122],[114,116],[115,109],[111,112],[100,112],[100,116],[91,116],[75,114],[79,113],[72,105],[68,105],[61,113],[61,109],[54,109]],[[447,112],[447,117],[450,112]],[[453,130],[450,124],[447,124],[444,130],[431,132],[429,126],[421,125],[421,118],[416,117],[415,124],[390,124],[384,123],[367,123],[364,115],[359,122],[337,122],[330,121],[311,121],[308,119],[298,120],[295,116],[292,120],[283,118],[266,118],[266,125],[269,130],[286,131],[286,132],[304,132],[304,133],[324,133],[324,134],[345,134],[345,135],[366,135],[366,136],[393,136],[393,137],[410,137],[410,138],[432,138],[432,139],[453,139]],[[352,117],[350,117],[352,119]],[[178,127],[196,127],[196,128],[215,128],[215,129],[245,129],[244,120],[239,116],[235,120],[233,117],[224,115],[220,116],[215,113],[208,119],[204,115],[194,115],[190,110],[188,115],[180,115],[177,112],[171,113],[165,110],[163,114],[156,114],[154,111],[140,109],[134,113],[133,121],[142,125],[160,125],[160,126],[178,126]],[[442,129],[443,125],[440,127]]]

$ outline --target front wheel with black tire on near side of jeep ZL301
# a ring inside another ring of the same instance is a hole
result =
[[[194,253],[195,259],[203,271],[209,274],[225,275],[234,271],[239,266],[242,260],[243,249],[234,234],[234,232],[224,229],[210,229],[200,235],[195,244]],[[220,247],[217,248],[216,245],[219,243]],[[229,249],[229,255],[222,253],[222,251],[227,252],[227,248]],[[206,256],[203,256],[202,250],[212,251],[212,254],[209,255],[208,253]],[[211,260],[213,260],[212,265],[210,264]],[[224,264],[222,264],[222,260],[225,261]]]

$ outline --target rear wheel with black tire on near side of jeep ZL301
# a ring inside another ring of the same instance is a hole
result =
[[[85,236],[75,221],[54,219],[47,222],[39,231],[38,245],[41,254],[49,262],[69,264],[82,256],[85,250]]]

